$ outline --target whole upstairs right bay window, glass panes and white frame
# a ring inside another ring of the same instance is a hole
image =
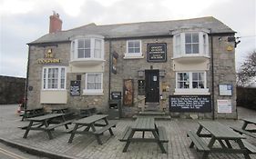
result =
[[[173,37],[174,57],[189,55],[209,55],[209,40],[207,33],[186,32]]]

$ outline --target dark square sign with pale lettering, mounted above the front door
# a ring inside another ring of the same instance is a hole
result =
[[[148,62],[166,62],[167,61],[167,45],[166,43],[148,44]]]

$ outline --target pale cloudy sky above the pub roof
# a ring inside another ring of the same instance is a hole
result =
[[[26,77],[28,43],[48,34],[53,11],[62,29],[81,25],[214,16],[237,32],[236,68],[256,50],[255,0],[0,0],[0,75]]]

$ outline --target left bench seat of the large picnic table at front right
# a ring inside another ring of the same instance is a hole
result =
[[[210,148],[200,139],[200,136],[198,134],[189,131],[187,135],[191,139],[193,144],[195,144],[199,152],[210,152]],[[189,148],[192,148],[193,144],[190,144]]]

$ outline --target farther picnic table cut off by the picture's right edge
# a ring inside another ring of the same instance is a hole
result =
[[[240,134],[247,134],[253,138],[256,138],[256,126],[255,126],[256,118],[246,118],[246,119],[241,119],[241,120],[243,120],[243,124],[242,124],[241,128],[233,127],[233,126],[231,126],[230,128]],[[254,127],[252,129],[249,129],[248,128],[249,124],[252,124]]]

